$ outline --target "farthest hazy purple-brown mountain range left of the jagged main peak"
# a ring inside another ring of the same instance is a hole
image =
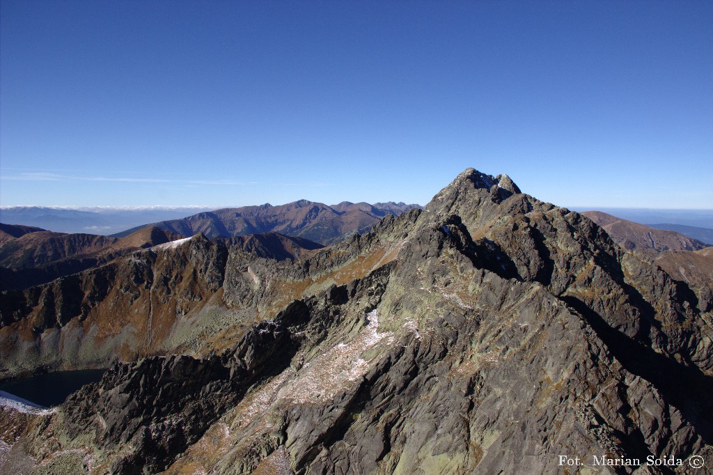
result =
[[[242,208],[225,208],[198,213],[188,218],[161,221],[152,226],[171,233],[193,236],[203,233],[206,237],[234,237],[276,232],[302,237],[322,245],[334,244],[355,233],[371,229],[386,215],[401,215],[420,205],[406,203],[349,203],[325,205],[308,200],[299,200],[286,205],[272,206],[269,203]],[[123,237],[138,228],[117,233]]]

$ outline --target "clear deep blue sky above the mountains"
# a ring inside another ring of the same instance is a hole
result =
[[[713,208],[711,1],[0,5],[0,205]]]

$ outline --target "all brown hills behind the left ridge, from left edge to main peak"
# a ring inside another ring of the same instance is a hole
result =
[[[50,282],[104,265],[135,250],[199,233],[231,250],[268,259],[294,260],[349,235],[364,233],[386,215],[400,215],[412,208],[419,205],[344,202],[327,206],[300,200],[281,206],[265,204],[198,213],[180,220],[141,225],[113,236],[0,224],[0,290]],[[38,209],[31,211],[41,213]],[[60,215],[67,215],[68,210],[59,211]],[[83,212],[77,213],[80,214],[74,216],[81,218]]]

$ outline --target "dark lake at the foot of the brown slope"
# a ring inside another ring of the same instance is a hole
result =
[[[0,391],[27,399],[40,406],[50,407],[62,404],[69,394],[77,389],[97,382],[105,369],[81,369],[79,371],[58,371],[0,384]]]

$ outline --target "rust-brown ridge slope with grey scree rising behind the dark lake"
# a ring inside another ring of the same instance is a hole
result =
[[[337,247],[292,264],[319,247],[276,233],[215,241],[197,235],[45,285],[3,292],[0,378],[106,367],[148,354],[222,351],[249,328],[244,324],[256,312],[272,317],[308,287],[331,285],[329,272],[368,252],[355,244],[348,252]]]

